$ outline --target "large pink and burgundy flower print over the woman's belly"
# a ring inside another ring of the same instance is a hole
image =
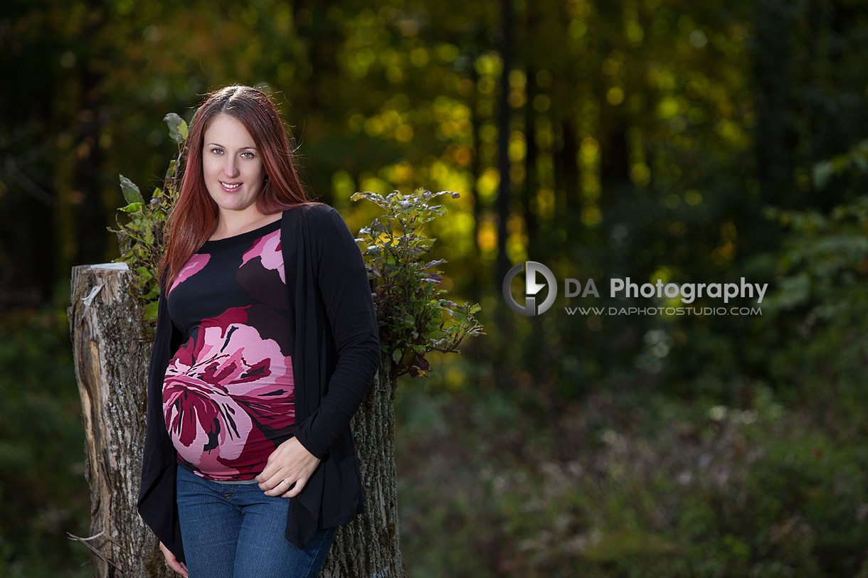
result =
[[[273,339],[245,325],[246,309],[203,319],[172,359],[163,384],[175,449],[214,479],[259,473],[274,449],[269,433],[295,422],[292,360]]]

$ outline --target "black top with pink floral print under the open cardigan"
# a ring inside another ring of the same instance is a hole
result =
[[[179,463],[208,479],[253,480],[292,436],[279,227],[278,220],[207,241],[168,292],[168,312],[184,341],[163,381],[163,416]]]

